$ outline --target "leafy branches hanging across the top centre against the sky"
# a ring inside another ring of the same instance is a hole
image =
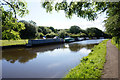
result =
[[[53,9],[56,11],[64,10],[66,17],[71,18],[73,14],[78,17],[88,18],[89,20],[94,20],[97,17],[95,10],[91,7],[92,3],[87,2],[73,2],[70,3],[63,0],[62,2],[57,2],[53,4],[51,1],[45,1],[42,3],[43,7],[46,8],[47,12],[51,12]]]

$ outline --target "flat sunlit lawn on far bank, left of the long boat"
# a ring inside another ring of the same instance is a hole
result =
[[[25,45],[28,40],[0,40],[0,46]]]

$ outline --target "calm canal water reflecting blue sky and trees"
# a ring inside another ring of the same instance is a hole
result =
[[[2,50],[3,78],[62,78],[103,39]]]

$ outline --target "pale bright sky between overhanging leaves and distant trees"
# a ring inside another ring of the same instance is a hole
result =
[[[52,26],[55,29],[69,29],[73,25],[77,25],[82,29],[97,27],[98,29],[105,31],[104,23],[105,13],[98,15],[98,19],[95,21],[87,21],[86,19],[79,18],[74,15],[71,19],[65,17],[64,11],[52,11],[47,13],[40,3],[40,0],[26,0],[29,14],[19,20],[33,20],[37,23],[37,26]]]

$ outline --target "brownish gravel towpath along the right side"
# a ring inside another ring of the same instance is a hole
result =
[[[106,63],[101,78],[118,78],[118,49],[107,42]]]

